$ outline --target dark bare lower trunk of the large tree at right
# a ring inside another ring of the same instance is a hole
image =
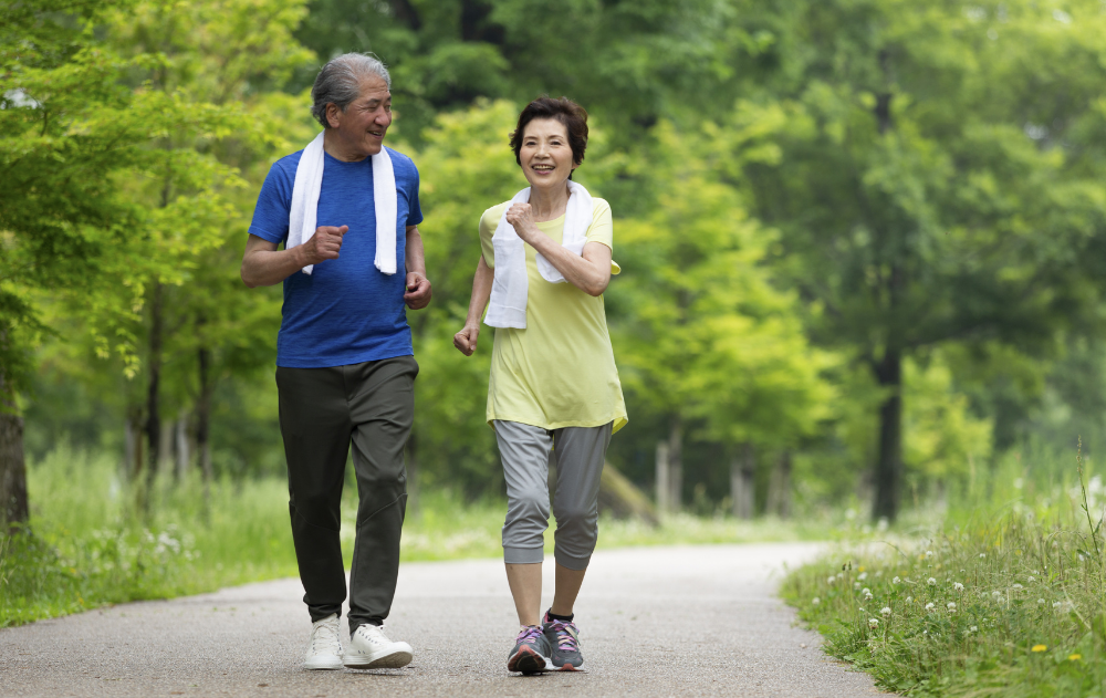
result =
[[[902,489],[902,355],[888,348],[876,365],[876,378],[888,390],[879,405],[879,452],[876,461],[875,520],[895,521]]]

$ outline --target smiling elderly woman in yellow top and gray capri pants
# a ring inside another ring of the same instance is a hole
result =
[[[480,218],[482,254],[468,319],[453,337],[471,356],[488,306],[484,322],[497,329],[488,423],[507,480],[503,558],[522,625],[507,666],[523,674],[583,664],[573,604],[595,549],[607,445],[626,424],[603,308],[618,272],[611,207],[572,181],[586,146],[578,104],[541,97],[522,111],[511,147],[530,187]],[[556,590],[539,619],[551,460]]]

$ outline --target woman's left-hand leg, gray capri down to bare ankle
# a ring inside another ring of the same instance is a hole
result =
[[[542,560],[549,528],[550,433],[518,421],[495,420],[495,439],[507,481],[503,561],[521,625],[538,625]]]

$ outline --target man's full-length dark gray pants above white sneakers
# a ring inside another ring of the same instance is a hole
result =
[[[311,619],[342,613],[342,485],[353,442],[357,535],[349,570],[349,631],[388,617],[407,509],[404,446],[415,417],[414,356],[333,368],[276,368],[288,459],[292,540]]]

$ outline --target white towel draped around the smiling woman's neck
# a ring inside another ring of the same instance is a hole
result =
[[[514,204],[530,201],[530,187],[514,195],[499,219],[491,242],[495,253],[495,275],[491,284],[491,299],[484,324],[492,327],[526,329],[526,299],[530,280],[526,278],[526,243],[514,226],[507,222],[507,211]],[[584,253],[587,229],[592,226],[592,195],[582,185],[568,180],[568,205],[564,211],[564,232],[561,246],[573,254]],[[550,283],[564,283],[556,268],[538,253],[538,271]]]

